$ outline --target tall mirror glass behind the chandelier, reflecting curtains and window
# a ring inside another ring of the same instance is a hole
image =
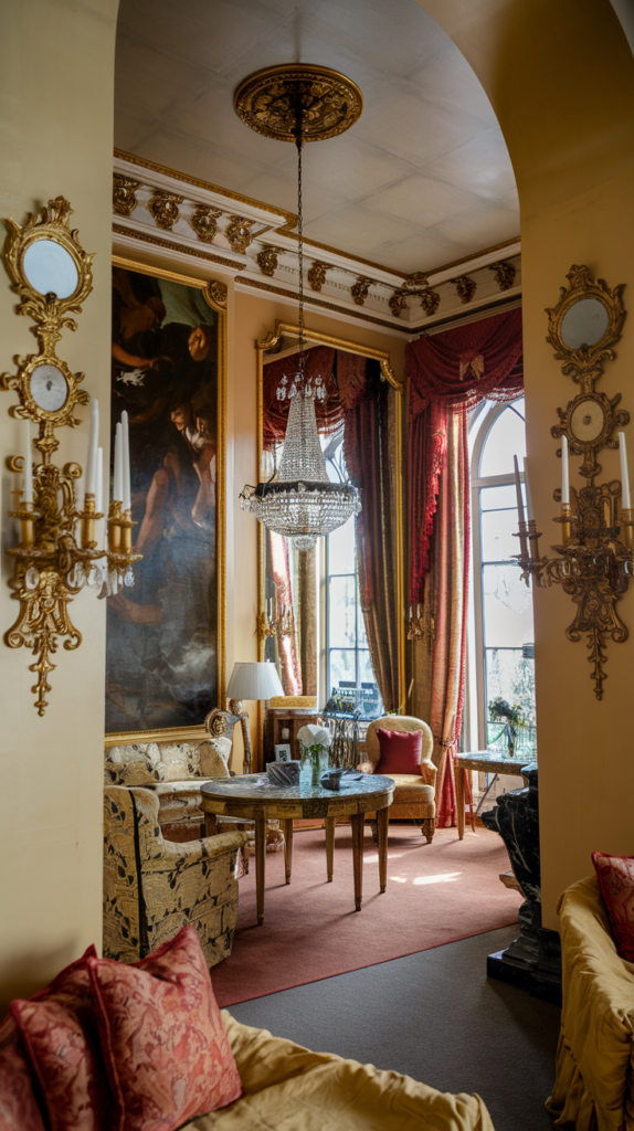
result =
[[[257,349],[266,481],[279,466],[288,400],[276,394],[293,380],[298,328],[276,323]],[[362,515],[312,551],[259,526],[259,656],[276,663],[287,696],[318,694],[323,708],[340,692],[362,713],[392,710],[405,685],[403,389],[388,353],[310,329],[305,349],[306,372],[327,389],[316,416],[328,474],[361,486]]]

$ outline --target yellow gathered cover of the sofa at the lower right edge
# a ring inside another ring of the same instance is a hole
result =
[[[564,891],[555,1126],[634,1131],[634,966],[619,958],[596,877]]]

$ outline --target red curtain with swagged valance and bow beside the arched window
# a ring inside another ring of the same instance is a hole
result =
[[[520,310],[422,337],[406,348],[409,380],[409,601],[433,641],[429,719],[437,818],[455,823],[453,758],[462,727],[470,542],[467,412],[523,388]],[[436,510],[441,506],[440,526]],[[426,585],[426,579],[433,581]]]

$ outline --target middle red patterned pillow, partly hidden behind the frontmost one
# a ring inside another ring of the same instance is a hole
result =
[[[40,1081],[51,1131],[110,1131],[112,1097],[93,1012],[94,947],[11,1015]]]

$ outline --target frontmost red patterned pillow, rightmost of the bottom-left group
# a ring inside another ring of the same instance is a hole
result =
[[[196,929],[139,962],[89,958],[119,1107],[113,1131],[173,1131],[238,1099],[242,1083]]]

